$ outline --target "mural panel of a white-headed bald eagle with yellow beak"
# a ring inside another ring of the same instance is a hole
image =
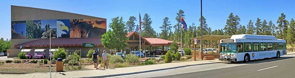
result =
[[[57,27],[57,38],[69,38],[70,31],[69,31],[69,19],[58,19],[56,22]]]

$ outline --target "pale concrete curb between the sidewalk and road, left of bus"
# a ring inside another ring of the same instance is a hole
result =
[[[228,62],[228,61],[224,61],[224,62]],[[114,74],[114,75],[105,75],[105,76],[91,76],[91,77],[81,77],[81,78],[102,78],[102,77],[123,76],[123,75],[131,75],[131,74],[155,72],[155,71],[168,70],[168,69],[183,68],[183,67],[187,67],[187,66],[198,66],[198,65],[206,65],[206,64],[214,64],[214,63],[224,63],[224,62],[212,62],[212,63],[194,64],[194,65],[177,66],[177,67],[171,67],[171,68],[165,68],[165,69],[155,69],[155,70],[148,70],[148,71],[134,72],[134,73],[123,73],[123,74]]]

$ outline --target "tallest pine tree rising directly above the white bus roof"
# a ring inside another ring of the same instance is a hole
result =
[[[226,19],[226,25],[223,28],[225,30],[226,35],[234,35],[237,31],[237,26],[240,24],[240,18],[238,15],[234,16],[233,13],[230,13],[228,19]]]

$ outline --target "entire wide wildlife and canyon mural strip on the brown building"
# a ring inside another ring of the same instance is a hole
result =
[[[50,19],[11,22],[12,39],[87,38],[106,33],[106,19]]]

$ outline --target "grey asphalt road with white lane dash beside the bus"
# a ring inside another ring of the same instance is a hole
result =
[[[295,58],[249,63],[242,66],[153,78],[295,78]]]

